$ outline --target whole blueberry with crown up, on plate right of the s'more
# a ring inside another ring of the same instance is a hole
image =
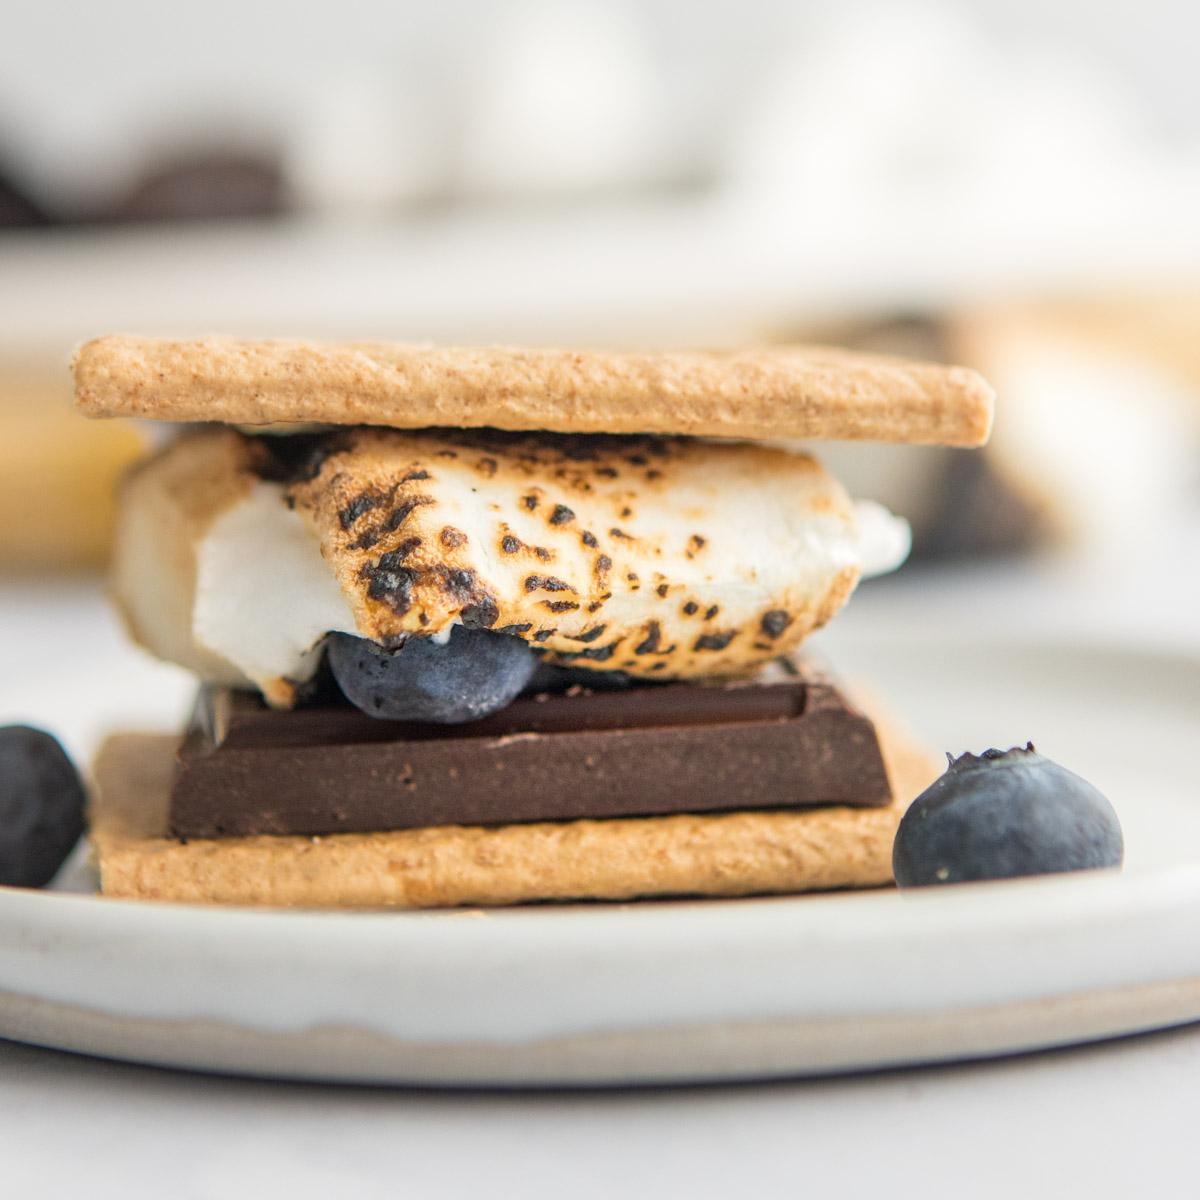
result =
[[[1120,866],[1123,856],[1112,805],[1031,742],[950,757],[904,815],[892,866],[900,887],[922,887]]]

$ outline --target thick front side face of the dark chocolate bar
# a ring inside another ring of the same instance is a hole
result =
[[[322,835],[889,803],[870,720],[828,684],[808,686],[796,715],[769,720],[307,745],[212,745],[193,730],[169,827],[180,838]]]

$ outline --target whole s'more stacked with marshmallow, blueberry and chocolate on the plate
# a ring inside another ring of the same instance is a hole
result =
[[[977,446],[962,367],[104,337],[89,416],[169,422],[112,593],[198,679],[95,764],[114,896],[419,908],[892,878],[937,764],[800,653],[901,517],[796,443]]]

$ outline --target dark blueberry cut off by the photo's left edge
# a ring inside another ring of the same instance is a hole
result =
[[[49,883],[83,833],[83,810],[79,773],[49,733],[0,728],[0,883]]]

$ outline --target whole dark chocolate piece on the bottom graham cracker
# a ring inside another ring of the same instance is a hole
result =
[[[169,828],[318,835],[890,798],[874,726],[823,677],[572,688],[457,726],[212,689],[180,746]]]

